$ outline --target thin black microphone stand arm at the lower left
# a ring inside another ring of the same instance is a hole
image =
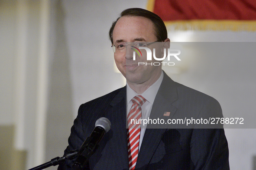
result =
[[[66,159],[68,160],[74,159],[77,156],[78,156],[78,150],[70,151],[67,154],[65,154],[63,157],[55,157],[51,161],[46,162],[45,164],[39,165],[37,167],[31,168],[29,170],[43,170],[45,168],[61,164]]]

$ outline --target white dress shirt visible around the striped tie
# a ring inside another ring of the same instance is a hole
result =
[[[149,116],[150,116],[150,112],[151,112],[151,109],[152,109],[152,105],[154,103],[154,100],[156,98],[156,94],[157,94],[157,91],[159,90],[159,87],[162,83],[162,80],[164,78],[164,73],[162,71],[161,73],[161,76],[159,77],[159,79],[154,83],[152,84],[148,89],[146,89],[146,91],[144,91],[142,94],[138,94],[136,93],[132,88],[130,88],[130,86],[126,83],[126,116],[128,115],[132,105],[133,105],[133,102],[131,101],[132,98],[134,98],[136,95],[142,95],[143,98],[145,98],[147,101],[142,105],[141,107],[141,110],[142,110],[142,114],[141,114],[141,119],[146,119],[148,120]],[[145,134],[145,131],[146,131],[146,126],[147,125],[144,125],[143,126],[143,122],[141,124],[141,129],[140,129],[140,137],[139,137],[139,149],[140,149],[140,146],[142,144],[142,141],[143,141],[143,137],[144,137],[144,134]]]

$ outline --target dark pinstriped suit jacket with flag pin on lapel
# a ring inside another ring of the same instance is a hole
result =
[[[170,116],[163,116],[170,112]],[[126,87],[82,104],[71,128],[65,153],[79,149],[100,117],[111,122],[99,148],[89,160],[90,170],[129,170],[126,130]],[[222,117],[220,104],[212,97],[172,81],[165,73],[150,119]],[[136,170],[229,170],[224,129],[160,129],[148,125],[139,150]],[[184,126],[183,126],[184,127]],[[58,170],[71,169],[66,161]]]

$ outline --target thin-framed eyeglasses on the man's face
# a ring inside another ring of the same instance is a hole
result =
[[[144,42],[133,42],[131,44],[126,44],[125,42],[120,42],[116,45],[113,44],[111,47],[112,47],[114,53],[122,53],[126,49],[127,45],[131,45],[133,47],[139,48],[139,47],[147,47],[147,46],[149,46],[153,43],[156,43],[156,42],[158,42],[158,41],[148,43],[148,44],[146,44]]]

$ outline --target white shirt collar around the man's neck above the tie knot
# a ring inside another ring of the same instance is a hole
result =
[[[161,76],[159,77],[159,79],[152,84],[148,89],[146,89],[146,91],[143,92],[143,94],[140,94],[143,96],[143,98],[145,98],[149,103],[153,104],[154,100],[156,98],[156,94],[157,91],[159,90],[159,87],[162,83],[162,80],[164,78],[164,73],[162,71]],[[126,83],[126,98],[127,98],[127,105],[128,103],[132,100],[132,98],[136,95],[139,95],[138,93],[136,93],[132,88],[130,88],[130,86]]]

